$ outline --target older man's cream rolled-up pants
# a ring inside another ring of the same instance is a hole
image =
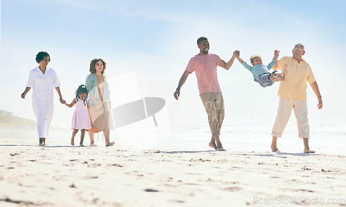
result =
[[[282,137],[282,132],[286,128],[292,108],[297,119],[299,137],[309,138],[310,127],[307,119],[307,101],[280,97],[279,108],[277,108],[277,117],[273,126],[271,135],[274,137]]]

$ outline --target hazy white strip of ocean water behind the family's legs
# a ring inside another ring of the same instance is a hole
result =
[[[223,126],[220,139],[224,148],[235,152],[270,152],[271,129],[273,126]],[[52,146],[70,146],[72,130],[51,130],[47,142]],[[346,124],[310,124],[309,145],[319,154],[346,155]],[[140,127],[127,126],[111,130],[111,141],[116,148],[123,150],[161,150],[161,151],[208,151],[210,141],[208,126],[189,127]],[[8,145],[37,144],[35,130],[0,130],[0,139]],[[80,140],[80,132],[75,144]],[[2,142],[3,143],[3,142]],[[104,146],[102,132],[95,134],[95,143]],[[89,146],[86,132],[84,145]],[[277,147],[282,152],[299,153],[304,149],[298,137],[296,124],[289,124],[283,136],[278,138]]]

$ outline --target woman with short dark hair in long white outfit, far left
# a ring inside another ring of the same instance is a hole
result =
[[[37,119],[37,132],[39,135],[39,145],[46,145],[46,137],[48,129],[53,118],[53,88],[57,90],[61,103],[66,103],[62,99],[60,92],[60,81],[57,73],[52,68],[48,68],[51,57],[47,52],[39,52],[36,55],[36,61],[39,63],[37,68],[30,70],[29,80],[26,89],[21,94],[21,98],[25,99],[26,94],[33,88],[33,110]]]

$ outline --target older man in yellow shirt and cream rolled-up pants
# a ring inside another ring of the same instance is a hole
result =
[[[315,151],[309,148],[310,128],[307,118],[307,82],[318,97],[318,109],[322,108],[322,96],[320,95],[315,77],[313,77],[311,67],[302,59],[302,56],[305,54],[304,46],[301,43],[296,44],[292,54],[293,57],[282,57],[274,66],[274,68],[282,69],[284,63],[287,63],[289,65],[287,70],[289,81],[280,82],[278,92],[280,103],[273,132],[271,133],[273,135],[271,150],[279,152],[277,149],[277,137],[282,137],[282,132],[286,128],[293,108],[297,119],[299,137],[304,141],[304,152],[315,153]]]

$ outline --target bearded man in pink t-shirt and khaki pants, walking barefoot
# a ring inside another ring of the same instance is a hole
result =
[[[199,54],[190,59],[185,72],[179,80],[174,97],[176,100],[179,99],[181,86],[183,86],[190,73],[196,72],[199,96],[208,113],[209,126],[212,132],[212,139],[210,140],[209,146],[218,151],[226,151],[222,147],[219,139],[225,110],[224,98],[222,97],[219,81],[217,81],[217,66],[221,66],[226,70],[230,69],[230,66],[233,65],[233,61],[235,60],[235,52],[233,52],[233,57],[230,61],[226,63],[218,55],[208,54],[210,47],[206,37],[197,39],[197,46],[199,48]]]

